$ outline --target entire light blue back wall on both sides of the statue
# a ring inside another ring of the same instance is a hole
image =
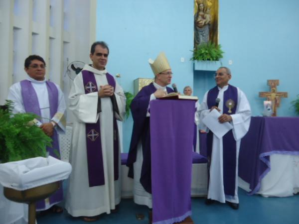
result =
[[[279,116],[293,116],[290,102],[299,94],[299,1],[219,0],[219,43],[223,66],[232,70],[231,84],[248,97],[253,115],[261,115],[269,91],[267,79],[279,79]],[[152,78],[148,59],[164,51],[180,92],[193,86],[200,100],[214,86],[212,73],[193,72],[193,0],[98,0],[97,40],[109,44],[108,71],[120,73],[125,91],[133,92],[137,78]],[[183,57],[185,62],[180,62]],[[228,65],[232,60],[233,64]],[[124,122],[124,150],[128,151],[132,118]]]

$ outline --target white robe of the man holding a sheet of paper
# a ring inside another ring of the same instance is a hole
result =
[[[223,95],[224,92],[228,89],[228,86],[223,87],[222,89],[218,87],[220,103],[218,108],[221,110],[220,113],[223,113]],[[208,199],[213,199],[221,203],[225,201],[239,203],[238,198],[238,158],[239,158],[239,149],[241,138],[247,133],[250,125],[251,118],[251,109],[249,102],[245,94],[239,89],[238,90],[238,103],[236,108],[236,113],[232,114],[232,121],[230,122],[233,125],[233,135],[236,140],[237,147],[237,156],[236,156],[236,185],[235,185],[235,195],[225,195],[224,194],[224,185],[223,185],[223,145],[222,138],[217,138],[213,135],[213,147],[211,155],[211,166],[210,166],[210,179],[209,179],[209,189],[208,189]],[[203,101],[197,111],[199,114],[199,128],[205,131],[209,131],[208,128],[202,123],[202,119],[210,112],[207,105],[207,95],[205,93]]]

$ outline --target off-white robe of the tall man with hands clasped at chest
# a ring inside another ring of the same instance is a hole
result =
[[[85,65],[84,70],[95,74],[98,89],[107,85],[106,70],[97,70]],[[115,80],[116,82],[116,80]],[[120,112],[119,119],[125,115],[126,97],[123,89],[116,82],[115,97]],[[101,98],[102,112],[97,113],[98,93],[85,94],[82,73],[74,79],[69,94],[70,110],[74,113],[73,134],[70,152],[70,163],[73,171],[69,179],[66,196],[66,210],[73,217],[97,216],[110,214],[110,210],[121,200],[121,177],[114,181],[113,156],[113,111],[109,97]],[[85,123],[96,123],[100,119],[102,155],[105,185],[89,187]],[[121,158],[119,154],[119,175]]]

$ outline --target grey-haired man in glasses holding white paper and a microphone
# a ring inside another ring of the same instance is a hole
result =
[[[200,129],[208,132],[208,196],[207,205],[214,201],[227,203],[231,208],[239,208],[238,198],[238,157],[241,138],[250,125],[251,109],[245,94],[237,87],[229,85],[229,68],[220,67],[215,73],[216,87],[206,92],[199,108]],[[220,102],[216,103],[216,99]],[[222,138],[218,138],[202,123],[202,119],[212,110],[220,112],[220,123],[230,122],[233,128]]]

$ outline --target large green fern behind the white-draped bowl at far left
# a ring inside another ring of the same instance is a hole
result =
[[[0,159],[17,161],[36,156],[46,156],[46,146],[52,139],[38,126],[32,125],[37,117],[33,113],[12,114],[13,102],[0,107]]]

